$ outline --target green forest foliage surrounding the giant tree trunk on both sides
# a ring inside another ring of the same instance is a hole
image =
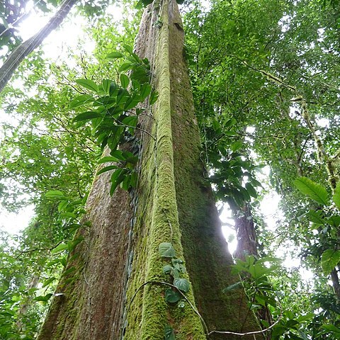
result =
[[[11,24],[25,16],[26,2],[0,5],[2,62],[22,42]],[[35,14],[60,3],[34,2]],[[113,21],[106,8],[119,4],[122,16]],[[35,339],[58,280],[72,277],[64,268],[84,242],[74,234],[91,228],[84,206],[98,164],[116,162],[99,171],[113,171],[111,193],[137,185],[137,115],[150,115],[140,103],[154,103],[157,93],[147,60],[130,47],[143,3],[119,4],[77,4],[66,19],[87,23],[77,48],[49,60],[39,47],[1,92],[1,206],[20,213],[33,204],[35,216],[18,235],[1,230],[0,339]],[[181,6],[200,159],[217,206],[232,211],[239,242],[232,271],[240,280],[225,292],[244,289],[267,339],[340,339],[339,5]],[[94,42],[91,52],[86,39]],[[136,152],[120,151],[123,142]],[[106,146],[111,154],[103,158]],[[261,201],[273,192],[282,216],[268,225]],[[186,269],[170,255],[160,271],[176,288],[166,298],[181,303]],[[300,267],[286,268],[286,256]],[[176,332],[167,328],[164,339]]]

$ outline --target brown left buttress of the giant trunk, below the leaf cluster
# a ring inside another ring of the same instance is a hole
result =
[[[120,331],[132,207],[129,193],[110,196],[110,175],[98,176],[87,201],[88,229],[62,276],[38,340],[113,340]]]

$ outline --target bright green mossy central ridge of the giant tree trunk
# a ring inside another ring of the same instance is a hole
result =
[[[157,47],[154,57],[154,73],[159,99],[154,106],[152,134],[149,140],[140,174],[139,210],[135,227],[135,258],[133,274],[129,282],[128,301],[148,281],[169,280],[162,273],[168,261],[159,256],[159,244],[171,242],[176,256],[183,259],[181,231],[174,181],[174,149],[171,129],[171,84],[169,69],[169,3],[162,3],[158,21]],[[188,278],[188,276],[187,276]],[[146,285],[138,293],[128,313],[125,339],[163,340],[167,324],[175,329],[176,339],[205,339],[198,316],[185,303],[184,307],[171,306],[164,300],[166,287]],[[192,291],[188,298],[193,302]]]

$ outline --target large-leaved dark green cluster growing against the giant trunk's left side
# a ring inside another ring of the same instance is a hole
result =
[[[110,79],[104,79],[97,85],[91,79],[77,79],[76,82],[83,89],[92,94],[81,94],[69,103],[69,108],[86,107],[87,111],[79,113],[73,118],[77,128],[91,123],[91,134],[103,150],[106,146],[110,149],[110,156],[103,157],[99,164],[118,163],[101,168],[97,175],[106,171],[111,174],[111,189],[128,190],[137,185],[137,172],[135,165],[138,158],[132,152],[123,152],[118,149],[127,134],[133,135],[137,127],[138,115],[144,113],[143,108],[137,108],[149,97],[149,105],[157,100],[157,93],[149,84],[149,61],[141,60],[128,45],[124,45],[128,56],[115,51],[107,55],[108,60],[123,59],[118,72],[129,71],[129,76],[120,74],[120,85]],[[129,87],[130,86],[130,87]],[[91,110],[89,110],[91,106]]]

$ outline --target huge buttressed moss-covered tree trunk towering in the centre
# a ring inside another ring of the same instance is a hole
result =
[[[149,58],[159,92],[149,116],[140,120],[154,139],[140,135],[138,188],[111,198],[110,176],[94,181],[87,204],[91,227],[83,233],[80,256],[69,264],[77,274],[62,278],[62,295],[52,302],[38,340],[164,340],[166,327],[177,340],[239,339],[207,335],[207,327],[252,331],[256,323],[241,291],[222,293],[237,278],[229,274],[232,259],[203,177],[176,2],[154,1],[146,8],[136,51]],[[185,261],[191,305],[164,300],[169,287],[161,282],[172,280],[162,272],[169,259],[159,256],[161,242],[170,242]]]

